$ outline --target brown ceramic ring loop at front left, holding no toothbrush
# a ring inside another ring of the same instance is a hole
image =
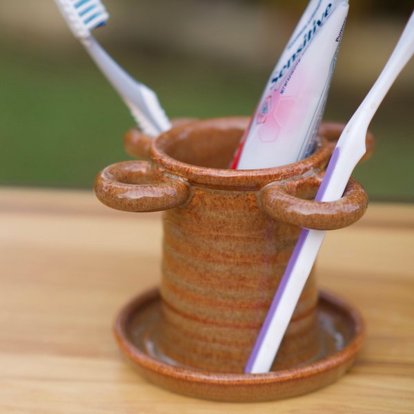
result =
[[[106,206],[135,213],[175,208],[189,195],[184,181],[155,170],[148,161],[123,161],[104,168],[94,190]]]

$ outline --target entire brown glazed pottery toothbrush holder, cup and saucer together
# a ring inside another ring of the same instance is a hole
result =
[[[245,118],[192,121],[149,141],[127,135],[146,161],[102,170],[95,193],[119,210],[163,210],[159,290],[128,304],[115,323],[121,350],[148,380],[178,393],[225,401],[263,401],[313,391],[353,363],[364,328],[358,313],[319,293],[313,271],[272,371],[244,365],[301,227],[342,228],[368,203],[351,179],[342,199],[315,202],[339,137],[323,125],[314,154],[295,164],[228,170]]]

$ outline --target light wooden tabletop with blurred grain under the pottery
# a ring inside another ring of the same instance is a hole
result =
[[[367,337],[351,371],[290,400],[226,404],[164,391],[122,359],[112,320],[159,284],[161,221],[92,192],[0,189],[1,413],[414,413],[414,206],[372,204],[328,233],[319,284]]]

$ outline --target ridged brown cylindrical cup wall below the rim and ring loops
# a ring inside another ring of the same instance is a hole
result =
[[[299,228],[262,213],[251,190],[193,186],[186,208],[164,212],[158,346],[180,364],[242,372]],[[309,277],[274,368],[312,360],[319,332]]]

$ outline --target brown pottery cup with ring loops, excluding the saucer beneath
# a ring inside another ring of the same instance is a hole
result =
[[[366,193],[351,179],[338,201],[313,201],[341,126],[323,124],[313,155],[262,170],[227,166],[248,119],[191,121],[157,139],[128,132],[146,160],[103,169],[95,193],[130,212],[163,210],[161,321],[153,346],[172,364],[242,373],[301,228],[331,230],[357,221]],[[313,270],[273,370],[321,353]]]

